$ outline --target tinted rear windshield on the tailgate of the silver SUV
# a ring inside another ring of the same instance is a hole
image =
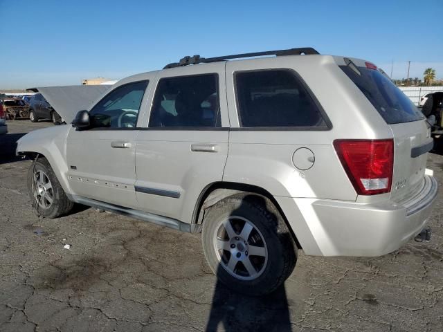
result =
[[[356,67],[353,63],[340,68],[368,98],[386,123],[411,122],[424,118],[423,113],[409,98],[379,71]]]

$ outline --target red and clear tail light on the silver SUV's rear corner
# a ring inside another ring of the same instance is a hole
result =
[[[334,148],[357,194],[390,192],[393,140],[334,140]]]

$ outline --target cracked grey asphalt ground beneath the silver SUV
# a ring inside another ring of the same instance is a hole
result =
[[[0,331],[443,331],[442,190],[429,243],[374,258],[309,257],[263,298],[230,293],[211,273],[199,234],[79,207],[39,219],[29,160],[0,136]],[[443,156],[428,168],[443,186]],[[64,249],[65,244],[71,248]]]

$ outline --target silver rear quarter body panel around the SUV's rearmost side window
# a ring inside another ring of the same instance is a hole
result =
[[[238,128],[234,73],[269,68],[296,71],[323,107],[332,128],[326,131]],[[228,62],[226,89],[233,130],[230,131],[224,181],[257,185],[274,196],[355,201],[356,192],[336,156],[334,140],[392,138],[386,122],[332,56],[302,55]],[[292,156],[299,147],[314,152],[314,166],[307,171],[300,171],[293,165]]]

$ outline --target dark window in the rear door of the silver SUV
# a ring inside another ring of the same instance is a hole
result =
[[[162,78],[149,127],[220,127],[217,84],[217,74]]]

